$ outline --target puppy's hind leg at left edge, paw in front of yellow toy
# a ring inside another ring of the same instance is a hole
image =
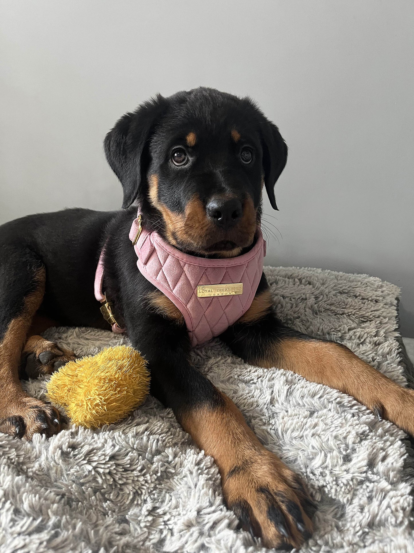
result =
[[[18,378],[30,322],[43,299],[45,269],[19,252],[3,257],[0,275],[0,432],[28,440],[35,432],[51,436],[61,429],[59,411],[23,392]]]

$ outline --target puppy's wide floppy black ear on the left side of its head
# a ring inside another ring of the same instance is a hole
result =
[[[146,180],[148,140],[168,105],[166,98],[157,95],[133,113],[125,113],[105,137],[105,156],[123,187],[124,208],[134,203]]]

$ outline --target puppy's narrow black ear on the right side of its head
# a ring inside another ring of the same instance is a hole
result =
[[[278,206],[276,205],[276,199],[274,197],[274,185],[288,160],[288,147],[282,135],[279,133],[277,126],[266,117],[264,117],[264,119],[264,122],[261,124],[264,185],[266,186],[270,204],[273,209],[277,210]]]

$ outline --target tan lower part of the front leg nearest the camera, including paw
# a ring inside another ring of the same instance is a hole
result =
[[[215,392],[215,401],[183,407],[177,417],[219,467],[227,506],[243,528],[267,547],[300,547],[312,533],[314,505],[300,478],[266,450],[236,405]]]

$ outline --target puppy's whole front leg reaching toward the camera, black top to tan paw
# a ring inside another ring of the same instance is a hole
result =
[[[299,479],[266,450],[236,405],[189,361],[187,331],[141,309],[127,325],[147,359],[151,394],[171,407],[184,430],[219,468],[224,497],[243,527],[268,547],[299,547],[312,532],[312,503]],[[145,315],[144,315],[145,314]],[[131,330],[132,329],[132,330]]]

